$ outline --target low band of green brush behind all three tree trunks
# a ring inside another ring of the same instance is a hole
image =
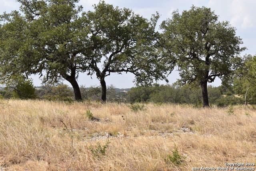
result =
[[[225,107],[228,105],[243,104],[245,94],[238,93],[240,84],[234,80],[233,86],[219,87],[208,86],[209,102],[212,105]],[[254,87],[255,89],[256,87]],[[83,99],[89,101],[101,100],[101,87],[80,87]],[[120,91],[114,86],[107,87],[107,101],[122,103],[174,103],[174,104],[192,104],[196,107],[202,106],[202,93],[198,87],[190,85],[159,85],[138,86]],[[246,89],[245,89],[246,90]],[[239,90],[240,92],[241,90]],[[19,92],[19,93],[18,93]],[[8,84],[3,90],[0,90],[0,98],[10,99],[41,99],[50,101],[74,101],[74,92],[68,85],[58,83],[52,84],[46,82],[40,88],[35,88],[31,80],[13,78],[12,84]],[[246,103],[256,104],[255,90],[247,91]]]

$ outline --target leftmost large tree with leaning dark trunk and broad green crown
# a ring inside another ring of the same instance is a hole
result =
[[[84,25],[78,20],[82,7],[78,0],[18,0],[22,16],[14,11],[4,14],[0,62],[1,75],[24,72],[26,75],[43,74],[48,79],[62,77],[73,86],[76,100],[81,100],[76,82],[78,72],[84,71],[79,37]],[[7,34],[6,34],[7,33]],[[15,45],[15,46],[14,46]],[[14,48],[14,50],[11,50]],[[8,54],[8,52],[12,53]]]

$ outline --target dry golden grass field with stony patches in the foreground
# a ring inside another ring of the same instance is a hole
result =
[[[100,121],[90,121],[87,110]],[[255,107],[227,110],[146,104],[136,112],[117,103],[1,100],[0,171],[189,171],[256,163]],[[175,148],[178,163],[167,159]]]

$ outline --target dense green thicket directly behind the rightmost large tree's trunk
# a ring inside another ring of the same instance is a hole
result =
[[[208,86],[210,103],[215,103],[221,97],[220,87]],[[190,85],[154,85],[149,87],[133,87],[128,91],[128,101],[136,102],[161,102],[161,103],[187,103],[196,106],[202,105],[202,92],[198,87]]]

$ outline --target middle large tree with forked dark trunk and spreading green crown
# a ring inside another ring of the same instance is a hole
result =
[[[94,11],[82,14],[82,20],[90,21],[89,35],[93,44],[88,74],[96,73],[100,80],[103,101],[106,101],[105,77],[111,73],[133,73],[137,84],[146,85],[153,80],[166,79],[165,67],[156,53],[158,18],[155,14],[147,20],[132,10],[114,8],[104,1],[94,5]]]

